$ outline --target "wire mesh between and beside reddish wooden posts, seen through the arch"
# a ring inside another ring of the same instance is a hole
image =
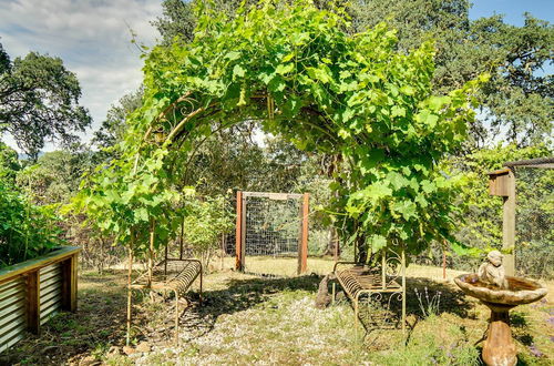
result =
[[[257,193],[256,193],[257,194]],[[264,193],[260,193],[261,195]],[[258,275],[296,276],[302,228],[302,197],[288,194],[284,199],[246,195],[245,200],[245,272]],[[277,194],[277,197],[279,194]],[[236,196],[229,197],[236,214]],[[336,237],[330,226],[316,223],[308,214],[307,273],[328,274],[332,270]],[[225,235],[222,246],[225,267],[234,266],[236,232]],[[233,261],[230,261],[233,257]]]

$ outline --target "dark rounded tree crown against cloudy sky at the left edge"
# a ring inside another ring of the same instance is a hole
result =
[[[72,143],[91,118],[81,87],[59,58],[30,52],[10,62],[0,48],[0,135],[9,132],[31,160],[48,140]]]

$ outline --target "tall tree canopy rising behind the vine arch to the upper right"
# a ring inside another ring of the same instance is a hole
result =
[[[255,3],[256,1],[247,1]],[[284,1],[276,1],[283,3]],[[171,44],[176,38],[194,37],[195,1],[166,0],[164,13],[154,26]],[[233,17],[240,1],[214,1],[214,7]],[[471,139],[464,150],[491,144],[499,135],[526,146],[552,133],[552,65],[554,28],[525,14],[523,27],[507,24],[501,16],[470,20],[468,0],[370,0],[315,1],[319,8],[346,4],[356,33],[381,21],[398,30],[399,50],[408,51],[433,39],[437,54],[434,90],[448,93],[483,72],[492,78],[480,91],[478,123],[470,125]]]

